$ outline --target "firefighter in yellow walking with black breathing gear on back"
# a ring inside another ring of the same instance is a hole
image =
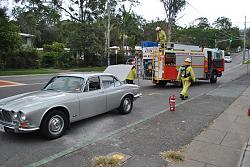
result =
[[[192,82],[195,82],[195,74],[193,68],[191,67],[191,59],[186,58],[184,65],[179,68],[177,81],[182,82],[182,91],[180,93],[180,98],[185,100],[188,98],[188,89]]]

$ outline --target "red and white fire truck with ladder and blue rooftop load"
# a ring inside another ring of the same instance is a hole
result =
[[[168,49],[156,42],[143,42],[143,79],[157,85],[176,83],[178,69],[191,58],[196,79],[216,83],[224,71],[224,51],[194,45],[168,44]]]

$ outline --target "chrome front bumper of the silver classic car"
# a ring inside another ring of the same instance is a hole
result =
[[[0,121],[0,132],[13,131],[16,133],[27,133],[39,130],[39,127],[20,128],[18,122],[6,123]]]

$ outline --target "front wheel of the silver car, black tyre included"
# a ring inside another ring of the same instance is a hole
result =
[[[67,116],[59,110],[45,115],[41,124],[41,133],[47,139],[56,139],[63,135],[68,125]]]

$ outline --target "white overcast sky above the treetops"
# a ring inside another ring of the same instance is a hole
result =
[[[146,20],[166,18],[160,0],[139,1],[140,5],[135,8],[135,11]],[[224,16],[231,19],[234,26],[244,29],[246,16],[246,26],[250,27],[250,0],[187,0],[187,2],[185,9],[177,16],[177,25],[189,25],[199,17],[206,17],[209,23],[213,23],[218,17]]]

